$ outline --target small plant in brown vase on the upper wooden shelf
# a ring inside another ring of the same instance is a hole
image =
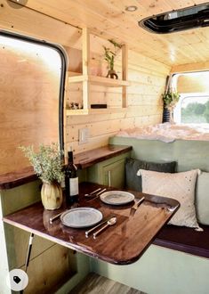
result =
[[[121,44],[118,44],[114,40],[109,40],[109,42],[114,46],[114,51],[112,51],[109,47],[103,46],[105,51],[105,61],[109,64],[109,72],[106,78],[118,78],[117,72],[114,70],[114,63],[115,63],[115,57],[117,56],[117,49],[120,49],[122,47]]]

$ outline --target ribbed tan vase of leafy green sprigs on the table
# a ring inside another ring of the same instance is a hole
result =
[[[60,208],[62,203],[62,190],[60,182],[64,179],[62,168],[62,154],[57,143],[39,145],[39,150],[34,151],[33,146],[20,146],[21,151],[28,157],[34,167],[36,175],[42,180],[41,197],[45,209]]]

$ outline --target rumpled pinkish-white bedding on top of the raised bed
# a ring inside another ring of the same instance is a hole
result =
[[[184,125],[184,124],[158,124],[145,127],[125,129],[117,133],[117,136],[132,137],[138,139],[160,140],[170,143],[175,140],[209,141],[209,124]]]

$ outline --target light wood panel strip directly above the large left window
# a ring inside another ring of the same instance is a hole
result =
[[[49,3],[46,2],[46,4]],[[41,9],[41,5],[39,5],[39,9]],[[59,13],[59,9],[57,12]],[[59,20],[59,17],[54,19],[47,17],[47,14],[45,12],[43,15],[26,7],[15,9],[6,0],[2,0],[0,6],[1,29],[9,29],[60,45],[74,47],[80,43],[78,40],[81,37],[81,29],[64,24]]]

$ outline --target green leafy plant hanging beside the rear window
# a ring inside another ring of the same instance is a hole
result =
[[[176,91],[168,89],[165,94],[162,95],[164,108],[170,113],[170,122],[173,122],[173,109],[180,100],[180,94]]]

